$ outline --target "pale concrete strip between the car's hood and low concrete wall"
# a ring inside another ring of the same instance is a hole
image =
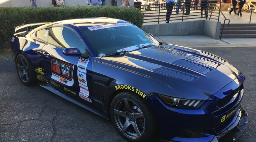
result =
[[[214,40],[204,35],[193,36],[158,36],[158,41],[186,46],[190,48],[203,47],[255,47],[256,38],[233,38]]]

